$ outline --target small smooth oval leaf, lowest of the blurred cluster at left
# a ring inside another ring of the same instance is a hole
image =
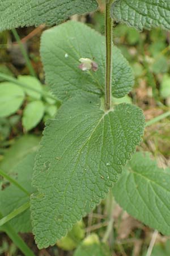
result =
[[[23,112],[22,124],[26,131],[35,127],[44,115],[44,104],[42,101],[32,101],[27,104]]]

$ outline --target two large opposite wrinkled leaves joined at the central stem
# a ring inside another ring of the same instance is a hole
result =
[[[46,123],[36,155],[31,197],[33,233],[39,247],[53,245],[100,203],[141,142],[142,110],[121,104],[101,108],[105,83],[105,38],[78,22],[46,30],[41,39],[46,81],[63,100]],[[97,72],[78,68],[80,57],[95,57]],[[113,96],[123,97],[133,75],[113,47]]]

